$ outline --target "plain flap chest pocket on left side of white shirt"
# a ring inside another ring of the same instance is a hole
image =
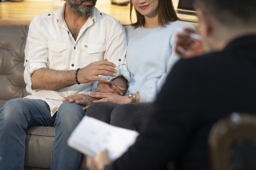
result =
[[[47,42],[48,45],[48,62],[50,69],[60,69],[64,67],[66,61],[65,53],[67,44],[63,42]]]

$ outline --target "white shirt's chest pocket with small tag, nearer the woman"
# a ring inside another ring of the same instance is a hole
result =
[[[82,44],[83,67],[90,63],[104,59],[105,45],[102,44]]]

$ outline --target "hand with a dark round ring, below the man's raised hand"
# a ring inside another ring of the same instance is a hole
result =
[[[112,83],[112,87],[109,86],[109,83]],[[98,82],[98,91],[104,93],[110,92],[121,96],[123,95],[122,91],[125,90],[124,88],[120,87],[118,84],[112,81],[109,83]]]

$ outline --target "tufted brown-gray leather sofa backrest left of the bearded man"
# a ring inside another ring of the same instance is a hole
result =
[[[0,24],[0,100],[27,96],[24,49],[29,25]]]

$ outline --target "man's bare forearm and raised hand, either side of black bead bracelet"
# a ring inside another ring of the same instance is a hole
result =
[[[91,81],[110,82],[106,78],[98,75],[116,76],[117,70],[114,63],[108,62],[106,59],[89,64],[87,67],[78,71],[77,80],[79,83],[88,83]],[[76,70],[57,71],[47,68],[35,70],[31,75],[32,89],[57,90],[70,87],[76,84]]]

